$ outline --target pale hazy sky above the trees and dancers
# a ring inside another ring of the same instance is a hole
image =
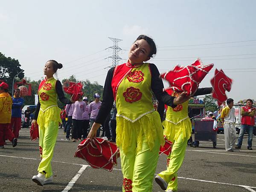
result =
[[[49,59],[63,64],[58,78],[75,75],[104,84],[119,38],[125,62],[140,34],[154,38],[151,63],[160,73],[201,58],[214,68],[200,87],[210,86],[215,68],[233,79],[228,97],[256,99],[255,0],[9,0],[0,6],[0,52],[20,61],[25,76],[38,80]],[[106,50],[105,50],[106,49]]]

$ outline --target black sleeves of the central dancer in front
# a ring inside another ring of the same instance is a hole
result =
[[[163,119],[163,112],[164,112],[164,104],[175,107],[173,105],[173,100],[175,97],[170,96],[166,91],[163,91],[163,81],[159,78],[160,73],[157,69],[157,66],[155,64],[149,64],[150,70],[151,70],[151,89],[154,92],[155,96],[157,97],[157,100],[159,101],[158,104],[158,113],[160,114],[161,119]],[[111,87],[111,82],[113,79],[113,71],[114,67],[112,67],[107,74],[104,90],[103,90],[103,101],[101,108],[99,110],[98,116],[95,120],[96,123],[102,124],[108,113],[111,111],[111,108],[113,106],[114,97],[113,97],[113,90]]]

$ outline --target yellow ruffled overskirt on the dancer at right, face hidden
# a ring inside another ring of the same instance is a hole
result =
[[[192,132],[192,125],[189,118],[184,119],[183,121],[179,122],[177,125],[167,120],[164,120],[163,127],[164,127],[163,134],[166,135],[167,140],[172,142],[177,140],[181,133],[183,134],[183,139],[185,139],[185,138],[189,138]]]

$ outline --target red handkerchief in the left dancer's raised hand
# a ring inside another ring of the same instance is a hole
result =
[[[79,100],[79,98],[83,95],[83,92],[82,92],[83,85],[80,82],[74,83],[74,82],[66,81],[63,84],[63,88],[67,94],[74,95],[73,100],[75,101]]]

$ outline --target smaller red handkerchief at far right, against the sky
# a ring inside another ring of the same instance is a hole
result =
[[[211,84],[213,88],[212,98],[216,99],[218,106],[227,100],[227,95],[225,91],[230,92],[232,79],[225,75],[223,70],[215,69],[214,77],[211,79]]]

